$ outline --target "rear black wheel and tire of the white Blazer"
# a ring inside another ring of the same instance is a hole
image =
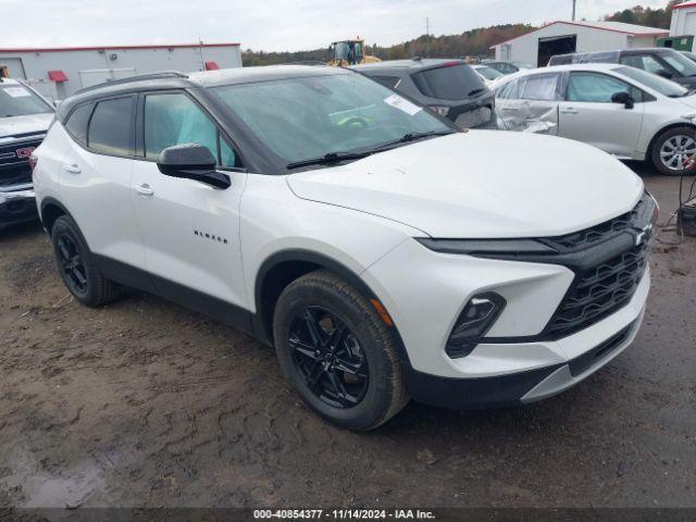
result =
[[[100,307],[120,295],[120,287],[97,269],[75,222],[61,215],[51,228],[58,273],[70,293],[83,304]]]

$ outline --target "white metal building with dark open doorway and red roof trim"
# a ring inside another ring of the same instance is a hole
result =
[[[493,46],[496,60],[545,66],[555,54],[655,47],[669,34],[658,27],[621,22],[552,22]]]

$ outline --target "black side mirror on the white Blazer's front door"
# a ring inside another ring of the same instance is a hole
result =
[[[164,149],[157,166],[165,176],[194,179],[215,188],[229,188],[229,176],[217,172],[215,163],[215,158],[208,147],[183,144]]]

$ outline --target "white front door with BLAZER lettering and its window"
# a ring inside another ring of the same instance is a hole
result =
[[[158,293],[210,313],[224,306],[210,310],[209,297],[246,309],[239,207],[247,176],[238,154],[210,114],[187,92],[141,95],[138,117],[142,158],[134,164],[132,198],[147,270]],[[229,188],[213,188],[159,171],[160,152],[187,142],[211,150],[219,169],[231,178]]]

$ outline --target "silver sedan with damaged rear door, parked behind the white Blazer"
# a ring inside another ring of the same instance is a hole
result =
[[[511,129],[549,122],[622,160],[647,160],[663,174],[696,171],[696,96],[638,69],[558,65],[496,84],[496,107]]]

